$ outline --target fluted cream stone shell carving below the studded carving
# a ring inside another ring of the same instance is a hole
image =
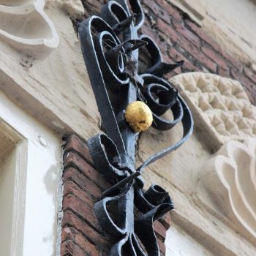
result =
[[[256,139],[226,143],[200,173],[200,203],[256,244]]]

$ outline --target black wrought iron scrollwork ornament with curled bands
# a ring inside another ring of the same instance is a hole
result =
[[[139,0],[118,0],[109,1],[99,17],[83,20],[79,27],[83,57],[105,130],[89,139],[89,149],[97,170],[116,181],[94,206],[100,225],[116,236],[111,256],[160,255],[153,222],[173,209],[173,202],[157,185],[144,192],[140,174],[147,165],[181,146],[193,128],[187,104],[161,78],[183,62],[163,62],[153,39],[138,35],[143,21]],[[151,67],[143,74],[138,72],[140,48],[146,48],[151,58]],[[135,101],[144,102],[151,109],[154,128],[167,130],[179,121],[184,128],[181,140],[149,157],[137,170],[135,144],[139,132],[125,118],[127,105]],[[162,117],[168,110],[173,113],[172,120]],[[114,212],[108,207],[113,204]],[[134,206],[140,211],[136,216]]]

